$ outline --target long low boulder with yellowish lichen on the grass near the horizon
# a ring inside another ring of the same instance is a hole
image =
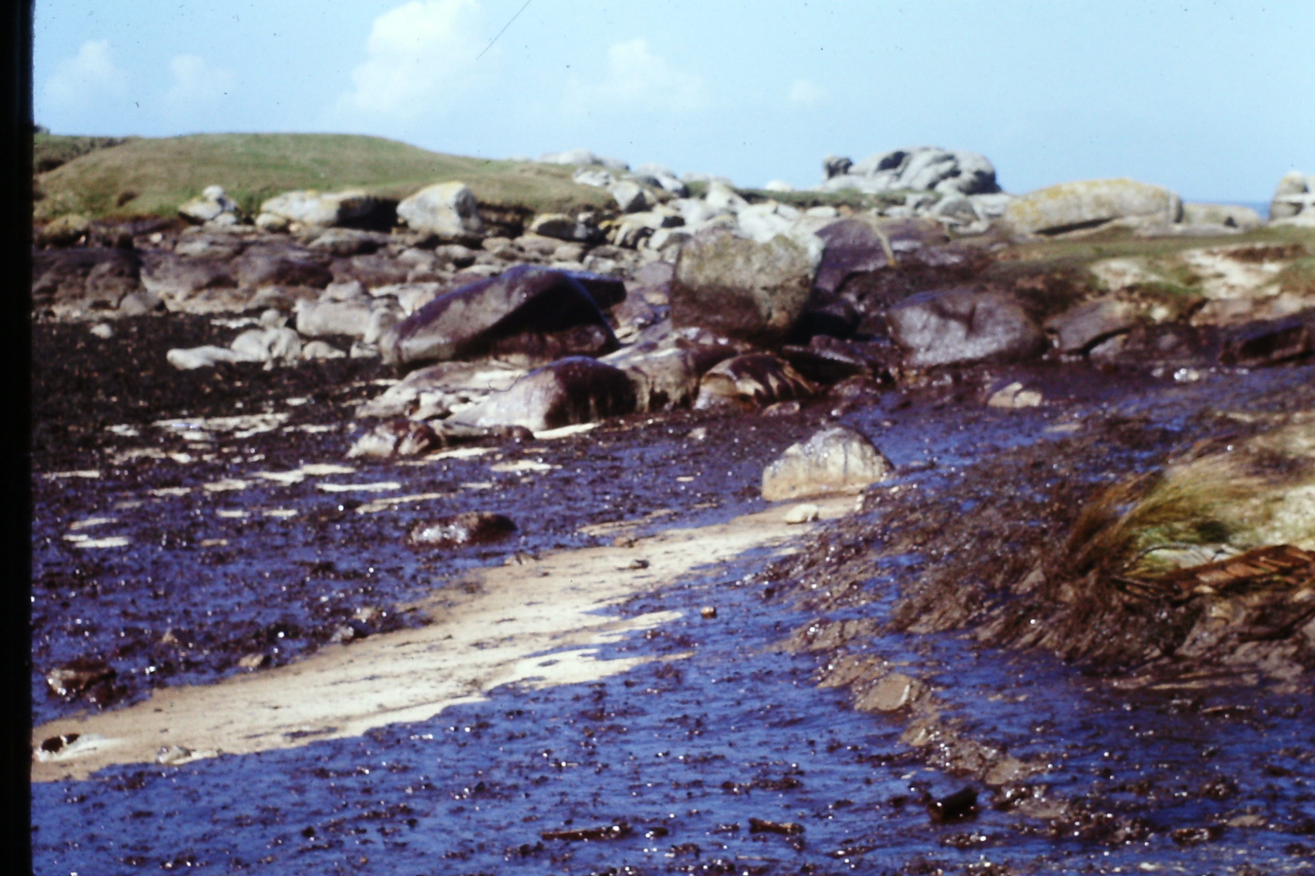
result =
[[[1114,219],[1168,225],[1181,218],[1177,194],[1126,179],[1061,183],[1015,198],[1005,209],[1005,222],[1019,234],[1061,234]]]

